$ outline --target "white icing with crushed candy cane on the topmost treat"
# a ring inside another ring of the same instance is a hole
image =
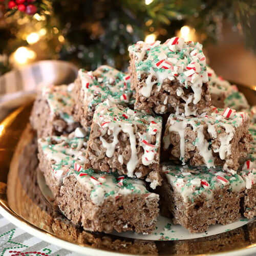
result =
[[[155,85],[157,91],[160,91],[164,79],[170,81],[177,79],[181,84],[181,87],[177,89],[177,96],[184,96],[182,87],[186,89],[191,87],[193,90],[191,98],[187,99],[189,102],[186,106],[190,102],[197,104],[201,100],[202,86],[208,81],[208,75],[202,45],[198,42],[185,42],[183,38],[173,37],[163,44],[160,41],[152,44],[138,41],[128,50],[130,55],[135,57],[138,79],[142,74],[147,74],[145,86],[140,89],[142,96],[150,97]],[[155,79],[152,79],[153,77]],[[163,104],[166,103],[167,99],[164,99]],[[165,108],[161,111],[164,113]],[[188,108],[185,109],[184,114],[185,116],[191,114]]]

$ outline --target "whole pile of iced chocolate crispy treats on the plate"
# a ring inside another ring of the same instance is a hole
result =
[[[255,107],[198,42],[128,50],[129,73],[80,69],[35,100],[39,168],[62,214],[85,230],[143,234],[160,210],[191,233],[254,218]]]

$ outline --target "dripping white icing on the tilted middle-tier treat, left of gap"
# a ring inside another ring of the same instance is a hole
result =
[[[102,146],[106,148],[106,156],[109,158],[114,155],[117,143],[119,142],[119,133],[122,131],[123,133],[129,134],[131,158],[126,164],[127,175],[129,177],[134,176],[134,170],[139,163],[136,148],[138,145],[144,150],[142,156],[143,165],[148,166],[152,163],[159,163],[158,152],[162,129],[161,118],[154,118],[140,111],[123,108],[110,100],[106,100],[97,106],[94,113],[94,122],[99,125],[100,140]],[[138,130],[138,125],[143,125],[147,132],[142,134],[142,131]],[[105,135],[111,135],[113,137],[112,142],[107,142],[103,138]],[[152,144],[152,136],[156,138],[154,144]],[[120,156],[118,156],[118,160],[123,164],[123,159]]]

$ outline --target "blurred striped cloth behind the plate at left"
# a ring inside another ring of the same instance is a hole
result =
[[[0,76],[0,120],[31,101],[42,84],[71,83],[78,69],[69,62],[42,60]]]

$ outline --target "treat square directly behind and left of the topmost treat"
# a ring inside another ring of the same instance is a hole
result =
[[[92,124],[96,106],[105,99],[126,106],[134,101],[130,75],[109,66],[101,66],[89,72],[80,69],[75,80],[73,96],[74,118],[84,127]]]

